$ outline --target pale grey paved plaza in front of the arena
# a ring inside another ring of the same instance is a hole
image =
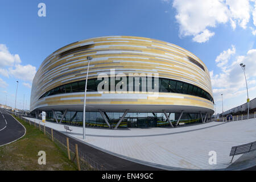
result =
[[[39,123],[39,119],[27,118]],[[42,125],[42,122],[40,122]],[[46,126],[79,140],[82,127],[46,122]],[[230,166],[232,146],[256,140],[256,119],[209,122],[177,128],[100,129],[86,128],[84,142],[134,162],[163,169],[223,169]],[[217,164],[210,165],[209,151],[216,151]],[[235,162],[241,155],[234,156]]]

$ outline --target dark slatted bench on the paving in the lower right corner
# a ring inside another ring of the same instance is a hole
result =
[[[256,150],[256,141],[251,143],[242,144],[241,146],[234,146],[231,148],[229,156],[233,156],[231,162],[235,155],[245,154],[247,152],[251,152]]]

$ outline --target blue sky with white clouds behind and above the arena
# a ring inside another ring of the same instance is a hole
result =
[[[46,5],[46,16],[39,16]],[[40,11],[41,12],[41,11]],[[0,104],[28,109],[34,75],[57,49],[110,35],[163,40],[206,65],[217,113],[256,97],[256,0],[1,0]],[[24,106],[23,106],[24,101]]]

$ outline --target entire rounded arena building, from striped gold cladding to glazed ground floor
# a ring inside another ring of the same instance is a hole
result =
[[[32,114],[46,111],[48,120],[82,125],[88,56],[86,126],[174,127],[214,113],[209,71],[193,53],[150,38],[104,36],[64,46],[43,61],[32,82]]]

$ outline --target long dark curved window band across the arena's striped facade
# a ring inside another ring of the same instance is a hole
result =
[[[87,83],[87,92],[97,92],[97,86],[101,81],[102,80],[97,80],[97,78],[89,79]],[[119,80],[115,80],[115,85],[117,85],[118,82]],[[141,78],[139,82],[141,83]],[[135,81],[133,80],[133,89],[135,89],[134,83]],[[129,91],[128,88],[129,88],[129,77],[127,77],[127,91]],[[152,80],[152,88],[154,88],[154,78]],[[43,96],[41,96],[40,98],[53,96],[55,94],[84,92],[84,89],[85,89],[85,80],[71,82],[71,83],[61,85],[54,89],[49,90],[48,92],[44,93]],[[109,91],[110,91],[110,77],[109,77]],[[139,92],[142,92],[142,84],[139,85]],[[147,92],[147,86],[146,86],[146,92]],[[210,96],[208,92],[199,88],[198,86],[188,84],[183,81],[171,80],[167,78],[159,78],[159,92],[189,94],[192,96],[206,98],[207,100],[214,103],[212,96]]]

